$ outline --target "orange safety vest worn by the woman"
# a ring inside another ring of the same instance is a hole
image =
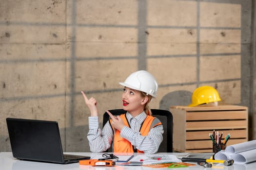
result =
[[[120,115],[121,119],[124,122],[124,125],[127,127],[130,127],[130,124],[128,123],[128,120],[125,116],[125,114]],[[140,127],[140,134],[142,136],[147,136],[150,129],[154,128],[158,125],[161,125],[162,123],[159,121],[156,124],[152,125],[152,122],[155,118],[153,116],[148,116],[146,117],[146,119],[142,122],[142,125]],[[112,119],[109,120],[110,125],[112,123]],[[112,125],[111,125],[112,127]],[[134,152],[138,152],[138,153],[144,153],[143,151],[139,151],[137,149],[134,149],[133,145],[129,142],[129,140],[123,138],[120,136],[120,131],[116,129],[114,129],[114,127],[112,127],[113,130],[113,136],[114,136],[114,152],[115,153],[134,153]]]

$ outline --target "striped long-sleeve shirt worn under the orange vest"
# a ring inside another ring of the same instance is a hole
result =
[[[126,117],[131,128],[127,126],[123,127],[120,136],[127,139],[138,150],[146,154],[156,153],[163,139],[163,126],[156,126],[149,131],[148,136],[141,136],[139,129],[144,119],[147,117],[146,113],[143,111],[134,118],[127,112]],[[105,152],[111,146],[113,140],[113,130],[110,123],[107,122],[101,131],[98,117],[89,117],[88,119],[89,132],[87,139],[89,141],[90,151],[94,153]]]

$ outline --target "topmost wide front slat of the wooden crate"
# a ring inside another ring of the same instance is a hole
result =
[[[247,119],[246,111],[187,112],[186,120]]]

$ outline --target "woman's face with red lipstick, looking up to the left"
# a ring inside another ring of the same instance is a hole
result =
[[[145,98],[141,92],[129,87],[124,87],[122,94],[123,109],[130,114],[139,114],[144,110]]]

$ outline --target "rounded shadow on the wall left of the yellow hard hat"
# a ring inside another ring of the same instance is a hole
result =
[[[178,90],[167,93],[159,104],[159,109],[170,110],[170,106],[189,105],[191,103],[192,92],[186,90]]]

